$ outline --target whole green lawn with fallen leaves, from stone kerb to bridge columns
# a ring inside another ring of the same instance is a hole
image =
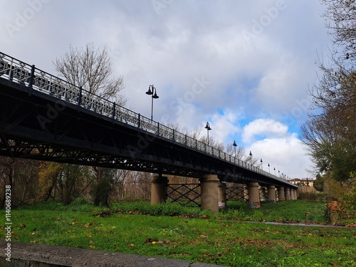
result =
[[[242,202],[229,202],[229,206],[212,214],[177,204],[150,206],[146,201],[115,204],[111,209],[80,201],[69,206],[38,204],[11,212],[12,241],[225,266],[356,266],[355,228],[244,221],[325,224],[324,203],[263,203],[258,210]],[[4,226],[0,233],[5,233]]]

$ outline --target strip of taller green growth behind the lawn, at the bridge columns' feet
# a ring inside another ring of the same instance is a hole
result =
[[[197,207],[181,206],[166,202],[152,206],[150,201],[126,201],[112,204],[109,208],[93,207],[83,199],[78,199],[65,206],[61,203],[48,202],[22,209],[31,210],[61,210],[61,211],[95,211],[95,214],[150,214],[151,216],[185,216],[189,218],[238,219],[244,221],[278,221],[326,224],[325,202],[322,201],[278,201],[276,203],[262,202],[261,209],[250,209],[247,203],[228,201],[228,209],[213,214],[201,211]]]

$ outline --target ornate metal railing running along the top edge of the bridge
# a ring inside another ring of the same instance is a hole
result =
[[[15,83],[24,85],[28,87],[29,91],[38,90],[39,92],[63,100],[66,103],[72,103],[80,108],[92,110],[93,112],[110,117],[113,120],[139,127],[141,130],[155,134],[160,138],[165,138],[171,142],[190,147],[211,157],[216,157],[258,174],[263,174],[266,177],[283,180],[280,177],[263,171],[263,169],[259,167],[248,164],[226,152],[217,150],[215,147],[206,145],[204,142],[184,135],[182,132],[177,132],[177,130],[161,125],[159,122],[140,115],[140,113],[123,108],[110,100],[101,98],[98,95],[68,83],[66,80],[39,70],[35,68],[34,65],[30,66],[4,53],[0,53],[0,78],[6,78]]]

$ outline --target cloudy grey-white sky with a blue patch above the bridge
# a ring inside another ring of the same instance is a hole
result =
[[[154,120],[201,135],[209,122],[209,138],[235,140],[264,170],[313,177],[300,125],[315,62],[332,45],[324,9],[310,0],[0,0],[0,52],[56,74],[69,46],[106,46],[127,108],[150,117],[154,85]]]

